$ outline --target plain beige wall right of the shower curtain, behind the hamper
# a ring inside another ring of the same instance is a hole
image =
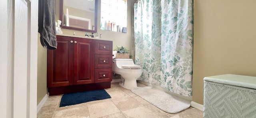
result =
[[[203,78],[256,76],[256,0],[194,0],[193,101],[203,104]]]

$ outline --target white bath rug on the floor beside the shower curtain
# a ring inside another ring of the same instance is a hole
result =
[[[190,107],[190,101],[154,87],[137,87],[132,92],[161,110],[174,114]]]

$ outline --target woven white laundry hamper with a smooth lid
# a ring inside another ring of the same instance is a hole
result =
[[[256,77],[204,78],[204,118],[256,118]]]

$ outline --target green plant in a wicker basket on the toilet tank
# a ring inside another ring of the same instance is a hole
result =
[[[129,59],[130,58],[130,52],[126,47],[116,45],[116,49],[114,51],[117,51],[116,58],[123,58],[123,59]]]

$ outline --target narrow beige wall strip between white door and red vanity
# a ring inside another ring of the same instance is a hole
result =
[[[37,104],[47,94],[46,71],[47,71],[47,50],[40,43],[40,33],[38,33],[38,55],[37,55]]]

